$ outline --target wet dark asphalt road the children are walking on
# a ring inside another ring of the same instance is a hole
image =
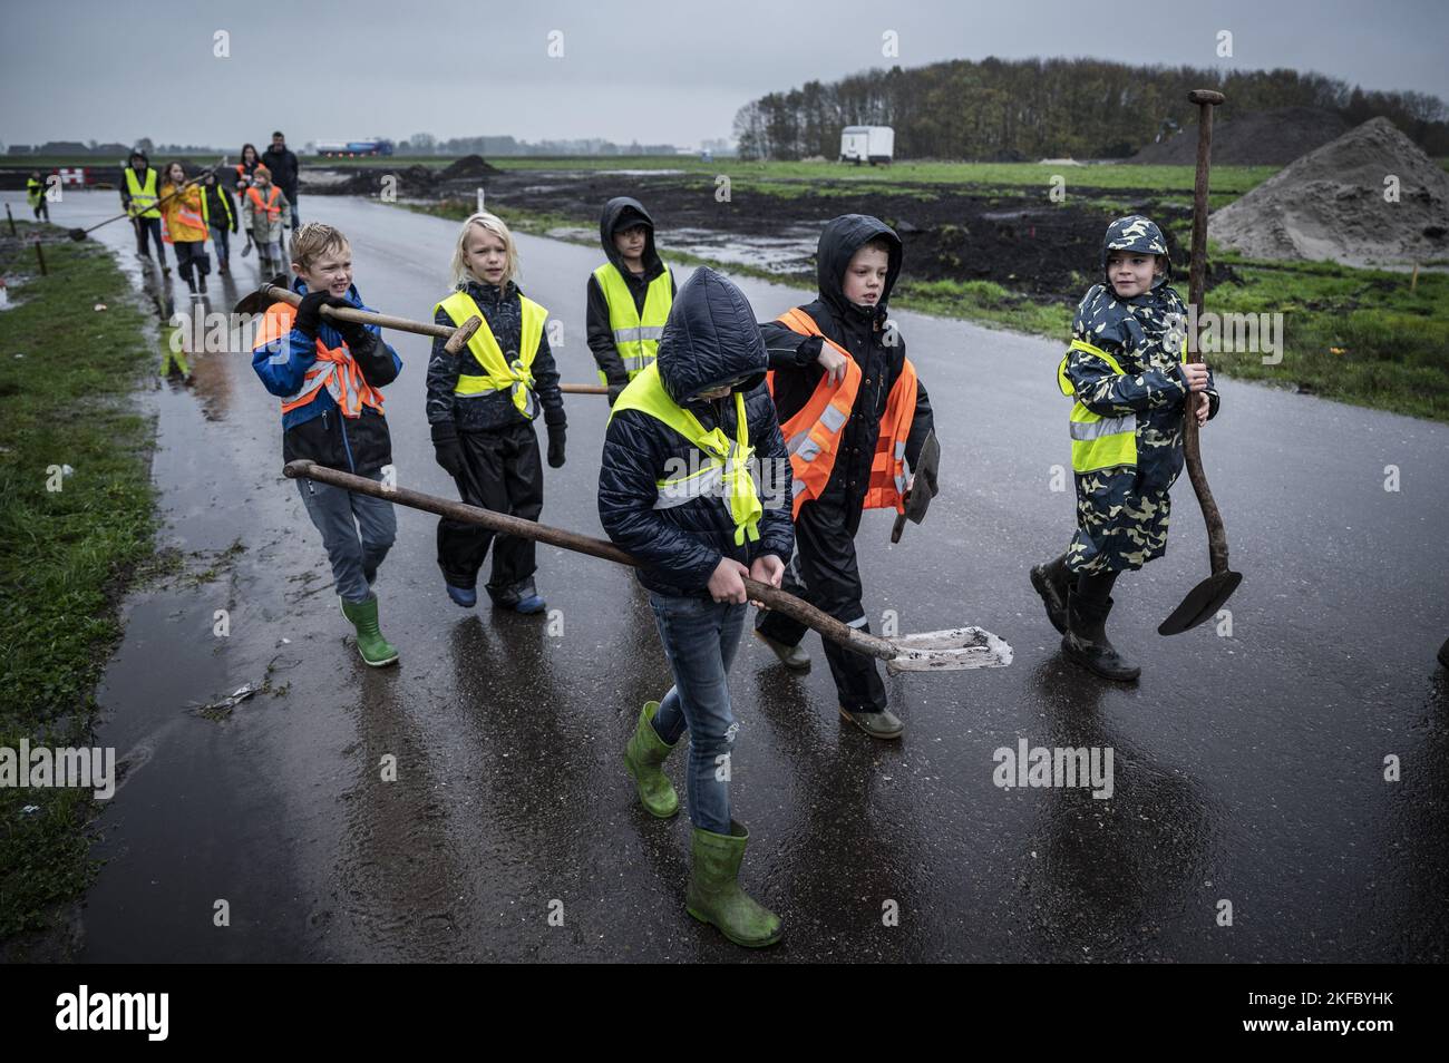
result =
[[[301,207],[349,233],[369,304],[429,316],[454,223],[359,200]],[[54,213],[72,224],[113,210],[113,194],[67,193]],[[133,268],[128,229],[97,236]],[[519,245],[525,290],[562,320],[564,378],[593,379],[584,281],[597,253]],[[235,255],[243,284],[213,278],[213,308],[255,281],[255,259]],[[807,297],[740,285],[762,319]],[[782,915],[780,947],[746,954],[685,915],[687,820],[658,823],[633,799],[620,750],[639,702],[668,686],[633,576],[540,547],[562,634],[462,611],[442,591],[435,518],[400,510],[378,591],[401,663],[368,671],[281,478],[275,400],[246,356],[203,355],[190,390],[143,400],[165,534],[187,552],[245,552],[217,579],[126,604],[100,741],[132,768],[101,820],[107,863],[80,957],[1443,960],[1449,675],[1435,650],[1449,636],[1449,426],[1223,381],[1204,449],[1245,573],[1232,636],[1155,633],[1207,575],[1184,478],[1169,555],[1117,588],[1114,639],[1143,665],[1122,688],[1062,660],[1027,582],[1074,521],[1069,478],[1051,490],[1068,458],[1062,345],[897,317],[938,410],[943,492],[894,547],[890,516],[867,516],[867,611],[878,627],[897,610],[901,631],[980,624],[1016,660],[888,679],[909,730],[885,744],[839,720],[814,636],[804,678],[746,637],[733,802],[753,834],[743,879]],[[404,361],[387,390],[400,482],[448,494],[423,421],[427,343],[390,340]],[[606,407],[569,397],[568,411],[543,520],[598,534]],[[284,695],[227,723],[184,711],[268,663]],[[1113,798],[997,788],[993,753],[1019,739],[1113,747]],[[396,782],[380,781],[387,755]],[[1390,755],[1400,782],[1384,779]],[[219,899],[229,927],[213,925]],[[1223,899],[1230,927],[1216,921]],[[891,901],[898,925],[882,925]]]

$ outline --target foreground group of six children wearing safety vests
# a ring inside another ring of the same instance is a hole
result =
[[[588,346],[611,407],[598,516],[610,540],[639,560],[674,678],[640,708],[625,766],[649,814],[675,815],[664,763],[688,731],[685,908],[730,941],[767,946],[780,940],[781,920],[739,885],[749,831],[729,794],[739,726],[727,676],[749,598],[743,579],[784,587],[851,627],[869,627],[855,533],[865,508],[903,510],[935,420],[888,322],[903,246],[878,219],[833,219],[820,238],[817,298],[761,326],[739,288],[711,269],[675,287],[639,201],[610,200],[600,238],[607,261],[587,282]],[[323,306],[362,307],[342,233],[304,226],[291,268],[301,304],[272,306],[254,352],[258,375],[281,398],[284,458],[380,479],[391,446],[378,388],[401,362],[377,329],[322,314]],[[1058,368],[1062,392],[1075,398],[1078,530],[1062,556],[1032,571],[1032,584],[1069,659],[1135,679],[1139,669],[1106,636],[1113,581],[1162,555],[1184,404],[1195,397],[1206,421],[1219,400],[1210,374],[1184,361],[1175,317],[1182,301],[1168,287],[1161,230],[1139,216],[1114,222],[1101,268]],[[548,311],[519,290],[517,249],[493,214],[462,224],[452,272],[455,290],[436,304],[435,320],[454,326],[478,316],[483,327],[458,355],[442,339],[433,345],[426,416],[436,459],[464,501],[533,520],[543,501],[539,413],[549,466],[565,458]],[[306,479],[298,490],[362,659],[396,662],[371,587],[396,533],[390,504]],[[446,595],[475,605],[490,546],[493,602],[542,610],[532,540],[443,518],[438,563]],[[797,671],[810,666],[804,631],[768,610],[755,621],[755,634]],[[900,737],[875,662],[832,642],[826,659],[840,714],[878,739]]]

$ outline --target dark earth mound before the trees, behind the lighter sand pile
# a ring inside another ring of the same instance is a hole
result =
[[[1232,167],[1285,167],[1300,155],[1343,136],[1348,123],[1319,107],[1281,107],[1213,122],[1213,164]],[[1177,136],[1149,143],[1127,162],[1155,167],[1197,164],[1197,123]]]

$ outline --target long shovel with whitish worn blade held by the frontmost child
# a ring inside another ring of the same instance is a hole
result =
[[[398,503],[414,510],[436,513],[439,517],[448,517],[449,520],[481,524],[498,534],[533,539],[549,546],[587,553],[619,565],[639,566],[638,560],[603,539],[590,539],[575,532],[548,527],[546,524],[523,520],[522,517],[510,517],[504,513],[494,513],[477,505],[438,498],[436,495],[410,491],[403,487],[387,487],[375,479],[354,476],[349,472],[339,472],[316,462],[287,462],[283,472],[293,479],[314,479],[319,484],[341,487],[354,494],[372,495],[374,498]],[[926,631],[898,639],[882,639],[848,627],[835,617],[826,615],[810,602],[801,601],[796,595],[780,591],[768,584],[745,578],[745,589],[749,592],[752,601],[784,613],[791,620],[814,629],[826,639],[838,642],[846,649],[884,660],[885,671],[891,675],[897,672],[958,672],[969,668],[1004,668],[1011,663],[1011,647],[980,627],[956,627],[946,631]]]

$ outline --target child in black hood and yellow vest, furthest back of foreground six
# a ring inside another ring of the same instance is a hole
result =
[[[655,359],[674,303],[674,271],[653,248],[653,219],[639,200],[617,196],[598,217],[607,261],[588,275],[588,349],[609,404]]]

